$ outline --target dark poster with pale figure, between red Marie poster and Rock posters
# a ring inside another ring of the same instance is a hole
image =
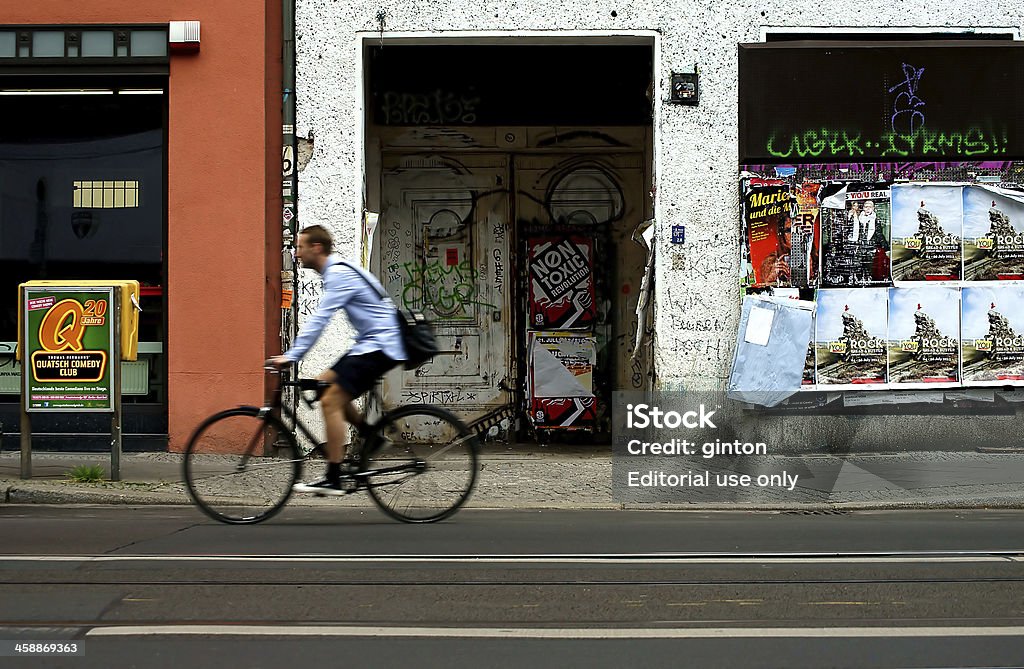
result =
[[[850,183],[838,193],[836,184],[826,185],[820,210],[821,285],[891,285],[889,185]]]

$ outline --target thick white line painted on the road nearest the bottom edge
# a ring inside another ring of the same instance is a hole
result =
[[[535,627],[371,627],[307,625],[146,625],[95,627],[86,636],[419,636],[451,638],[862,638],[1024,636],[1024,627],[709,627],[602,629]]]

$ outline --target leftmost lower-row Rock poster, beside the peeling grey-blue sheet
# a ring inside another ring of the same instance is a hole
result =
[[[814,319],[818,386],[882,387],[888,380],[885,288],[819,290]]]

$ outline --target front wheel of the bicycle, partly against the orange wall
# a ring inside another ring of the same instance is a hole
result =
[[[244,525],[274,515],[302,473],[302,453],[282,422],[256,407],[214,414],[185,449],[185,484],[215,520]]]

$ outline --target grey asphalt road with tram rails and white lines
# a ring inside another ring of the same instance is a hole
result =
[[[84,655],[10,666],[1021,666],[1022,521],[7,505],[0,666],[29,639]]]

